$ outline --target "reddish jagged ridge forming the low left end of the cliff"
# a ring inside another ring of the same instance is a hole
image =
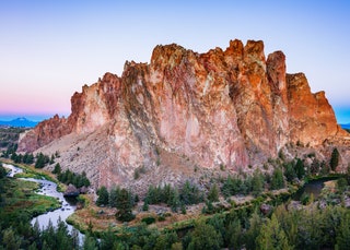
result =
[[[54,140],[70,133],[91,133],[113,120],[120,92],[120,79],[106,73],[92,86],[84,85],[82,93],[71,97],[71,115],[68,119],[45,120],[21,138],[19,151],[33,152]]]

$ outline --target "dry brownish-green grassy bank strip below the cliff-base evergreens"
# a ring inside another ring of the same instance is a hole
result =
[[[174,213],[166,204],[150,204],[149,210],[143,211],[143,201],[140,201],[132,210],[136,217],[129,223],[121,223],[116,219],[115,214],[117,210],[115,207],[97,206],[92,195],[84,194],[81,195],[82,200],[84,200],[84,207],[77,210],[70,215],[67,218],[67,223],[73,225],[82,233],[92,230],[96,235],[101,235],[108,229],[120,231],[122,228],[125,229],[126,226],[133,228],[143,223],[159,230],[186,230],[192,228],[196,222],[210,219],[215,214],[226,216],[232,213],[232,211],[248,210],[253,212],[255,209],[260,210],[261,204],[268,204],[272,207],[287,201],[295,190],[295,187],[290,187],[288,189],[267,191],[259,197],[233,195],[229,199],[222,197],[219,202],[212,203],[211,211],[209,211],[207,204],[202,202],[195,205],[187,205],[186,213],[182,213],[180,211]]]

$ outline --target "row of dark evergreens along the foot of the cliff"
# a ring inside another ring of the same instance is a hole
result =
[[[335,169],[335,166],[338,164],[335,157],[337,155],[337,148],[334,150],[330,163],[327,165],[328,168]],[[282,156],[280,156],[282,157]],[[225,199],[230,199],[232,195],[247,195],[252,194],[254,197],[259,197],[262,192],[269,190],[279,190],[287,187],[287,183],[293,183],[294,181],[302,180],[303,178],[312,175],[328,175],[328,171],[317,168],[319,166],[319,160],[315,158],[314,154],[308,155],[307,157],[313,157],[313,162],[310,166],[305,166],[304,160],[295,158],[292,160],[282,160],[281,158],[276,160],[270,160],[270,164],[273,166],[273,170],[261,172],[259,169],[256,169],[253,175],[241,174],[236,176],[229,175],[226,178],[220,178],[213,180],[210,183],[210,187],[203,188],[199,187],[196,183],[190,182],[189,180],[177,188],[172,187],[166,183],[164,186],[149,186],[147,194],[143,199],[143,211],[149,210],[151,204],[162,204],[171,207],[172,212],[186,213],[186,206],[198,204],[205,202],[206,205],[202,210],[205,214],[214,213],[212,203],[219,201],[219,197],[222,195]],[[326,166],[326,164],[323,164]],[[332,167],[330,167],[332,166]],[[324,167],[325,168],[325,167]],[[109,205],[112,207],[118,209],[118,203],[121,202],[125,204],[128,211],[128,219],[131,219],[131,209],[136,204],[135,199],[137,195],[133,194],[130,190],[125,190],[128,195],[125,195],[127,201],[118,200],[120,197],[120,188],[116,187],[108,191],[105,187],[102,187],[97,190],[97,205]],[[137,197],[138,198],[138,197]],[[129,216],[130,215],[130,216]],[[117,216],[120,219],[120,214]]]

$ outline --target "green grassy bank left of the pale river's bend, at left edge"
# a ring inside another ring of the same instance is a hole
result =
[[[60,204],[55,198],[36,194],[38,183],[9,178],[5,172],[0,164],[0,249],[28,249],[31,218]]]

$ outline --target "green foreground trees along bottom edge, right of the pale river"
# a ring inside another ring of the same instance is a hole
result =
[[[343,181],[341,179],[337,181],[336,193],[339,195],[349,193],[349,183],[339,182]],[[151,193],[160,193],[162,197],[171,188],[153,187],[150,190],[153,190]],[[158,201],[160,200],[162,198]],[[185,231],[171,229],[160,231],[141,224],[131,228],[122,227],[117,231],[112,231],[109,228],[103,233],[101,242],[97,242],[93,235],[89,237],[92,246],[101,249],[342,250],[349,248],[350,210],[345,204],[331,203],[326,206],[313,203],[299,210],[287,202],[272,207],[266,214],[260,211],[260,204],[257,203],[201,217],[195,222],[192,228]]]

